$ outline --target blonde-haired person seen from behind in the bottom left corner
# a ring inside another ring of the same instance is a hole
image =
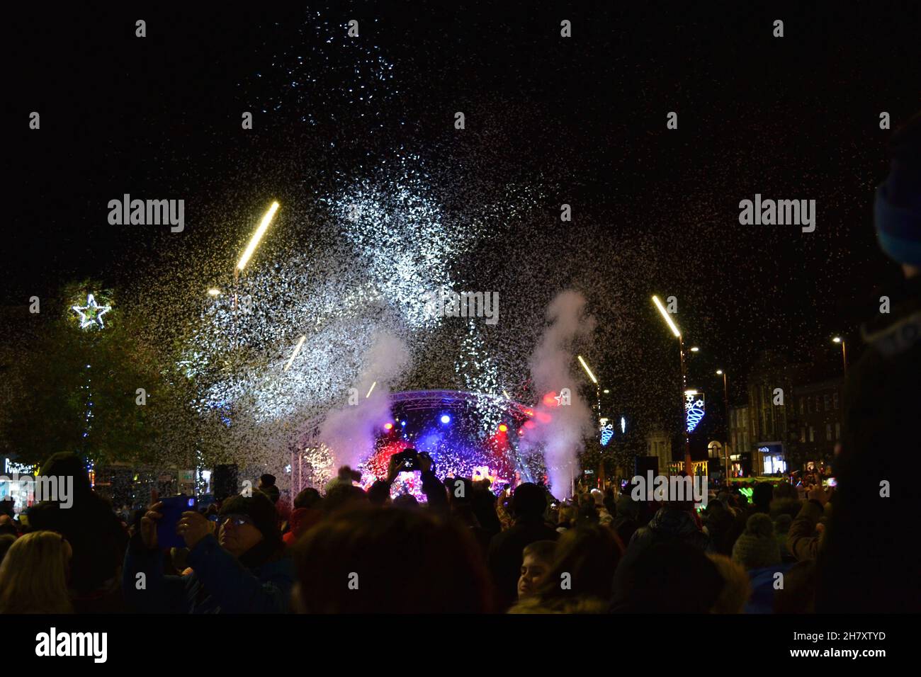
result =
[[[54,531],[20,536],[0,565],[0,613],[73,613],[67,590],[73,553]]]

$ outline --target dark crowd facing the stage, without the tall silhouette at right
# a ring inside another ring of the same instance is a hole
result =
[[[439,479],[430,458],[420,463],[421,503],[391,499],[398,460],[367,492],[344,467],[291,506],[263,475],[247,494],[183,512],[184,546],[167,548],[156,492],[125,522],[76,455],[55,454],[41,473],[78,478],[74,504],[0,517],[0,613],[822,611],[831,487],[800,496],[788,481],[764,482],[749,497],[728,484],[705,508],[613,487],[558,502],[542,484],[496,496],[489,480]],[[852,611],[906,604],[917,599]]]

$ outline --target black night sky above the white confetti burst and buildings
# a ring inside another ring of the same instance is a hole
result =
[[[716,390],[714,368],[744,373],[765,348],[834,374],[830,337],[856,336],[873,287],[898,274],[871,206],[888,168],[880,111],[894,129],[919,108],[916,8],[197,5],[7,10],[4,305],[85,277],[155,285],[183,251],[224,247],[229,270],[273,198],[275,241],[307,243],[323,195],[386,185],[381,162],[398,160],[444,213],[485,219],[456,279],[538,318],[560,289],[586,294],[601,325],[587,356],[624,397],[665,373],[634,360],[677,368],[653,293],[679,298],[703,348],[692,379]],[[111,226],[122,193],[184,199],[185,231]],[[816,200],[815,232],[740,226],[755,193]]]

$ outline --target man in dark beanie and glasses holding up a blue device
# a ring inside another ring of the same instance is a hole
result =
[[[153,501],[125,554],[122,590],[142,613],[286,613],[294,565],[287,556],[272,499],[261,491],[230,496],[217,529],[199,512],[182,513],[176,528],[189,548],[192,573],[167,576],[157,548],[158,510]],[[215,533],[216,531],[216,533]],[[139,574],[144,574],[139,577]],[[138,589],[137,581],[145,586]]]

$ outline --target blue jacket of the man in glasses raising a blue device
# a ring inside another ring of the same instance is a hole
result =
[[[295,570],[290,557],[247,569],[208,534],[189,551],[189,576],[165,576],[163,554],[135,534],[124,558],[124,599],[142,613],[286,613]],[[146,589],[137,589],[139,573]]]

